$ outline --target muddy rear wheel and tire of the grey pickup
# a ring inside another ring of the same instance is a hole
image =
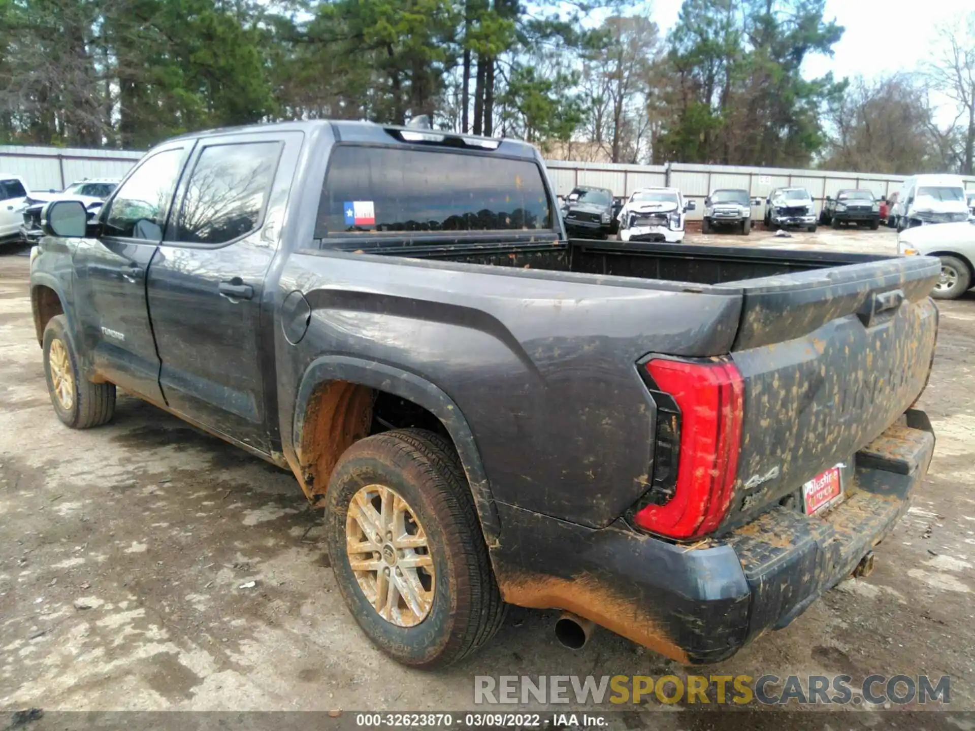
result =
[[[470,485],[453,446],[432,432],[384,432],[345,451],[329,481],[325,540],[352,616],[404,665],[450,665],[501,626]]]

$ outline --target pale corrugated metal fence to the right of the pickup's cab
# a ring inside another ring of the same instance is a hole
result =
[[[629,195],[643,186],[665,185],[679,188],[684,197],[697,204],[690,218],[700,218],[704,198],[716,188],[744,188],[756,198],[765,198],[773,188],[803,187],[816,200],[816,212],[826,196],[841,188],[869,188],[875,196],[886,197],[900,189],[904,175],[880,173],[838,173],[834,171],[746,168],[723,165],[613,165],[610,163],[546,162],[556,192],[568,193],[575,185],[610,188],[614,195]],[[964,177],[968,188],[975,188],[975,176]]]

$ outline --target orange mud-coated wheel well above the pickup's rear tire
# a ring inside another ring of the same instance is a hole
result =
[[[443,435],[444,424],[409,399],[350,381],[326,381],[312,392],[297,440],[299,480],[313,503],[326,492],[339,457],[354,442],[392,429],[417,427]]]

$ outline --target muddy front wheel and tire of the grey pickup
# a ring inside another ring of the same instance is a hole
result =
[[[72,429],[101,426],[115,415],[115,384],[92,383],[81,374],[63,315],[44,328],[44,376],[55,413]]]

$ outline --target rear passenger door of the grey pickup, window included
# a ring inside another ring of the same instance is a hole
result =
[[[267,452],[277,430],[274,303],[264,279],[277,251],[302,135],[199,141],[149,267],[148,300],[167,404]],[[270,412],[270,419],[268,414]]]

